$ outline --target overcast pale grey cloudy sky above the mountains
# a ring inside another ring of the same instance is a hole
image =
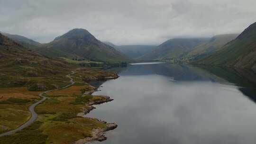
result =
[[[240,33],[256,0],[0,0],[0,31],[46,43],[84,28],[116,45]]]

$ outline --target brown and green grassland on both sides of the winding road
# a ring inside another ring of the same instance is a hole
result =
[[[89,102],[106,100],[102,96],[83,95],[95,89],[87,81],[117,75],[90,68],[78,68],[75,72],[71,76],[75,85],[47,93],[49,99],[35,108],[37,122],[14,135],[0,137],[0,144],[70,144],[91,136],[94,128],[105,128],[104,122],[77,114],[89,109]],[[62,82],[64,85],[69,81]],[[27,87],[0,88],[0,133],[15,129],[29,119],[27,108],[39,99],[38,93]]]

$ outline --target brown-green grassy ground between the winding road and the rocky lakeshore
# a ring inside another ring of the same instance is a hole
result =
[[[51,92],[47,95],[50,99],[37,106],[36,111],[40,114],[38,120],[44,123],[39,130],[48,135],[46,144],[69,144],[91,136],[93,128],[106,126],[97,119],[76,116],[82,110],[88,109],[86,103],[105,99],[101,96],[83,95],[84,90],[91,90],[91,86],[72,86]]]

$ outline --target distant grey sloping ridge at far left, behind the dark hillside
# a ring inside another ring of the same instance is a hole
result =
[[[36,42],[36,41],[29,39],[25,36],[11,35],[8,33],[2,33],[2,35],[9,37],[10,39],[14,40],[16,43],[23,45],[25,47],[33,47],[33,46],[41,45],[39,42]]]

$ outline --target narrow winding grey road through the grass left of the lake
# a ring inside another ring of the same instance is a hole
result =
[[[71,82],[70,84],[64,86],[63,88],[55,89],[55,90],[62,90],[62,89],[65,89],[65,88],[67,88],[67,87],[69,87],[69,86],[72,86],[75,82],[74,82],[73,79],[70,77],[70,75],[71,75],[71,74],[74,74],[74,73],[75,73],[75,72],[72,71],[70,74],[66,75],[66,77],[68,77],[68,78],[70,79],[70,82]],[[37,113],[35,112],[34,108],[35,108],[38,104],[42,103],[43,101],[45,101],[45,100],[47,99],[47,97],[43,96],[43,94],[46,94],[47,92],[51,92],[51,91],[55,91],[55,90],[47,90],[47,91],[44,91],[44,92],[39,93],[38,96],[41,97],[41,98],[43,98],[43,99],[40,99],[39,101],[37,101],[36,103],[32,104],[32,105],[28,108],[28,110],[29,110],[30,113],[31,113],[30,119],[29,119],[25,124],[19,126],[19,127],[16,128],[16,129],[13,129],[13,130],[11,130],[11,131],[9,131],[9,132],[0,134],[0,137],[1,137],[1,136],[6,136],[6,135],[14,134],[15,132],[24,129],[24,128],[26,128],[27,126],[30,126],[33,122],[35,122],[35,121],[37,120]]]

